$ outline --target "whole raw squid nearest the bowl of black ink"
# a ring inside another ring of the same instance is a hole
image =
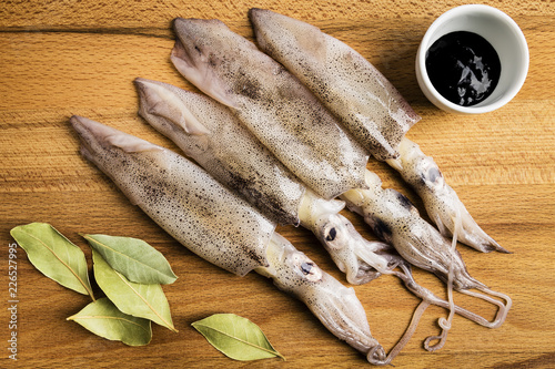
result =
[[[476,224],[435,162],[403,137],[420,117],[367,60],[300,20],[263,9],[249,14],[260,48],[297,76],[374,157],[401,173],[444,236],[456,233],[477,250],[506,253]],[[383,133],[390,131],[395,134]]]

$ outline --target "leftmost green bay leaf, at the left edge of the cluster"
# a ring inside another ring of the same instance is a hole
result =
[[[10,234],[43,275],[94,300],[83,252],[54,227],[30,223],[14,227]]]

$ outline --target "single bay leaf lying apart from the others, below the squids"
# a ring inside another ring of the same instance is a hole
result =
[[[192,326],[225,356],[235,360],[285,358],[278,352],[266,336],[251,320],[234,314],[214,314]]]

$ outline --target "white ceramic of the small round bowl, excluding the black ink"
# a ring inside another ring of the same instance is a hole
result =
[[[482,35],[497,51],[501,75],[493,93],[476,105],[461,106],[443,98],[426,72],[426,51],[442,35],[468,31]],[[528,72],[528,47],[518,25],[498,9],[468,4],[453,8],[437,18],[424,34],[416,53],[416,79],[422,92],[437,107],[455,113],[480,114],[509,102],[521,90]]]

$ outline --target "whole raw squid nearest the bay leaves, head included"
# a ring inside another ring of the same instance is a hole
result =
[[[354,290],[274,233],[275,223],[172,151],[81,116],[71,124],[81,154],[178,242],[239,276],[272,278],[370,362],[385,362]]]

